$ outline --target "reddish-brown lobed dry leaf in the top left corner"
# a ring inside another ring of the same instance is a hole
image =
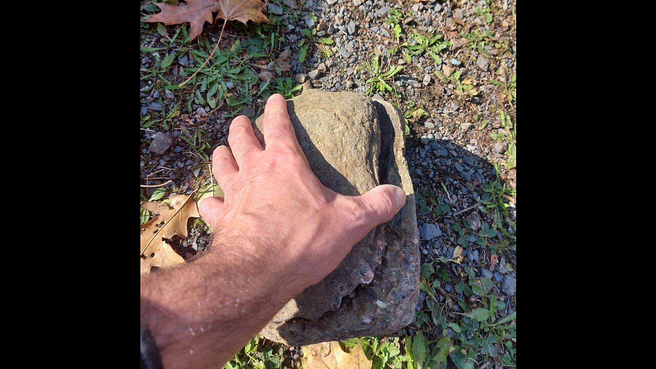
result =
[[[203,32],[205,22],[212,23],[212,12],[218,10],[218,1],[216,0],[187,0],[185,7],[167,3],[157,3],[156,5],[162,11],[146,19],[146,22],[162,22],[167,26],[189,22],[190,39],[195,39]]]

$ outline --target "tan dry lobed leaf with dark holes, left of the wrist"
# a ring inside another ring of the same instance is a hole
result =
[[[173,236],[187,238],[187,221],[200,217],[191,196],[169,197],[170,204],[147,202],[144,208],[158,214],[141,228],[141,274],[150,272],[151,267],[171,267],[184,263],[184,259],[164,240]],[[157,219],[155,221],[155,219]]]

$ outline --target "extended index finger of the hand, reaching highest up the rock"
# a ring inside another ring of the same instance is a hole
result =
[[[264,125],[265,150],[276,146],[300,148],[294,126],[291,119],[289,119],[289,113],[287,113],[287,101],[285,101],[283,95],[271,95],[266,101],[262,125]]]

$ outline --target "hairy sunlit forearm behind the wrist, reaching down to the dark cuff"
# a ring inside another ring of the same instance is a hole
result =
[[[235,243],[215,240],[192,263],[142,276],[141,319],[165,368],[220,368],[297,294],[278,260]]]

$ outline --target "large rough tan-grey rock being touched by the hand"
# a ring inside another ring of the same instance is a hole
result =
[[[321,183],[350,196],[390,183],[408,195],[392,220],[371,230],[335,271],[289,301],[262,330],[290,346],[397,332],[413,320],[419,295],[419,234],[403,117],[380,98],[311,88],[306,82],[300,96],[287,100],[287,110]],[[262,117],[254,129],[264,146]]]

